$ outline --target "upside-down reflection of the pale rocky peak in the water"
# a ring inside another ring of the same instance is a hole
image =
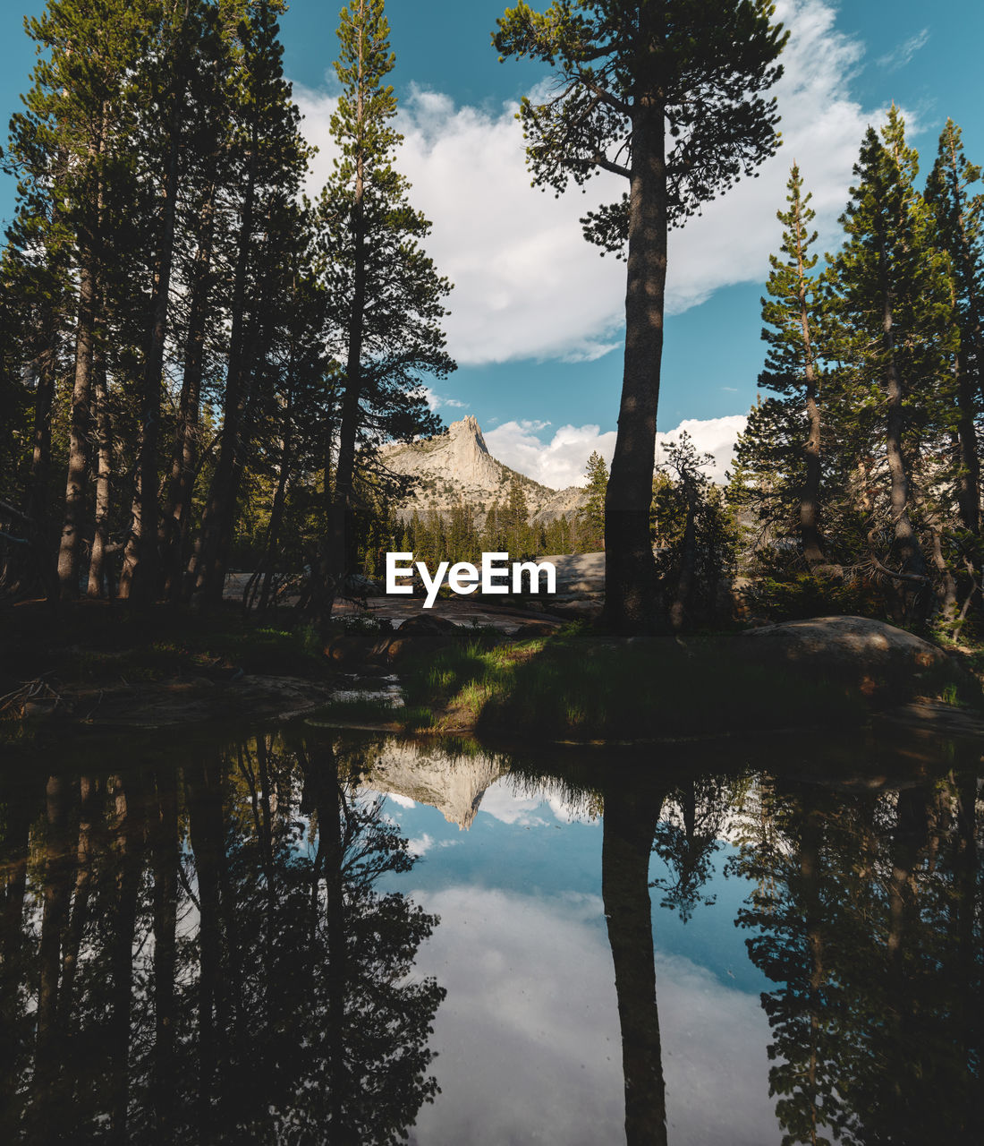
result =
[[[448,821],[472,826],[486,790],[509,771],[495,755],[455,755],[441,748],[387,745],[365,776],[378,792],[428,803]]]

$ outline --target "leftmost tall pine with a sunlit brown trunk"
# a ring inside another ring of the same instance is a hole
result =
[[[69,0],[52,0],[40,17],[27,21],[29,34],[44,54],[34,68],[25,110],[10,123],[10,152],[21,172],[21,219],[33,215],[44,220],[49,251],[64,254],[65,272],[77,282],[69,461],[58,552],[61,595],[66,598],[79,591],[96,343],[104,330],[110,268],[132,228],[131,217],[120,207],[126,190],[134,186],[127,156],[134,147],[141,105],[135,77],[140,73],[145,17],[144,5],[109,2],[94,10]],[[96,42],[100,50],[90,50]],[[26,237],[25,231],[21,237]],[[50,315],[52,321],[60,317]],[[48,337],[56,337],[55,331]]]

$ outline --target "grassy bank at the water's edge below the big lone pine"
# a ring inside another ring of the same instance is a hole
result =
[[[740,668],[719,644],[615,642],[572,628],[487,647],[463,643],[411,661],[407,704],[433,728],[475,728],[554,740],[663,739],[824,723],[856,724],[867,708],[834,683]]]

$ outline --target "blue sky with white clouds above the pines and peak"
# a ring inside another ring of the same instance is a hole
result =
[[[285,71],[304,131],[320,148],[312,193],[331,164],[339,7],[294,0],[282,21]],[[412,204],[433,222],[428,253],[455,284],[447,332],[458,369],[434,384],[433,406],[447,422],[473,414],[494,456],[560,487],[581,479],[592,449],[611,458],[614,448],[624,264],[601,258],[577,220],[622,188],[606,175],[587,195],[556,199],[529,186],[514,113],[548,72],[498,62],[490,33],[504,7],[503,0],[388,0],[404,135],[396,164],[412,183]],[[33,66],[23,15],[42,8],[40,0],[3,0],[0,107],[8,115]],[[923,174],[947,116],[963,128],[969,158],[984,162],[981,0],[778,0],[777,18],[790,31],[776,89],[782,147],[758,178],[670,238],[659,430],[672,437],[686,429],[714,453],[716,478],[756,398],[759,298],[780,242],[776,211],[793,159],[812,190],[825,250],[837,243],[861,136],[883,121],[892,100],[905,112]],[[13,194],[6,178],[3,219]]]

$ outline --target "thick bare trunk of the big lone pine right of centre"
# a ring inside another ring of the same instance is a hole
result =
[[[605,620],[616,633],[659,625],[650,539],[667,280],[667,167],[662,104],[632,116],[625,360],[619,431],[605,495]]]

